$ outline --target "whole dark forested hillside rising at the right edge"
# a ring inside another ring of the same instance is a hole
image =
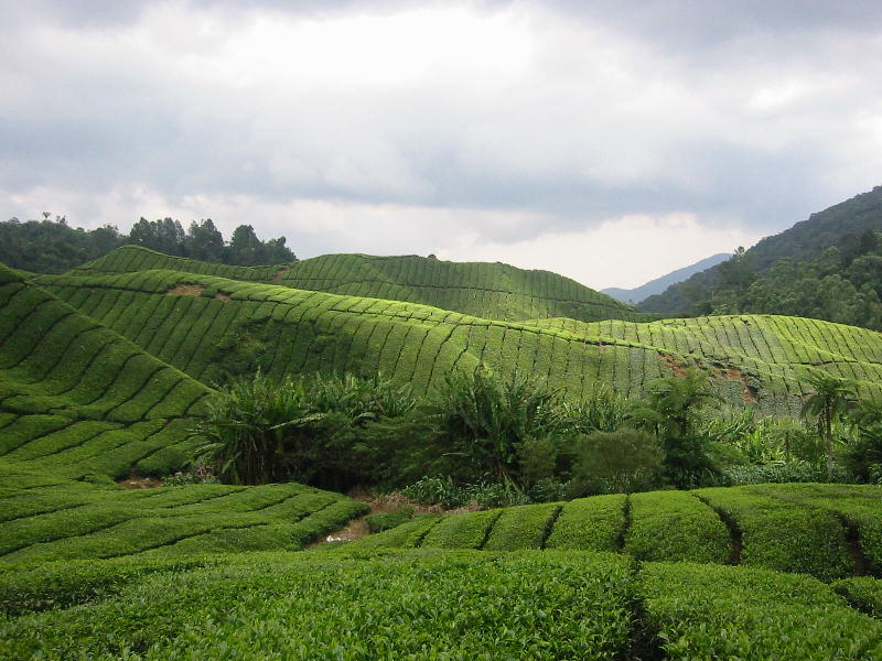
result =
[[[882,186],[832,206],[638,308],[663,314],[773,313],[882,329]]]

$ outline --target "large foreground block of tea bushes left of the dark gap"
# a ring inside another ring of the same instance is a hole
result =
[[[254,554],[4,621],[0,659],[614,659],[636,585],[601,554]]]

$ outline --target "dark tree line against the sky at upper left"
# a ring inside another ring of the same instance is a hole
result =
[[[10,218],[0,223],[0,262],[35,273],[64,273],[115,248],[135,245],[176,257],[255,267],[297,261],[286,238],[261,240],[250,225],[239,225],[227,241],[208,219],[192,221],[139,219],[129,234],[115,226],[73,228],[64,216],[44,213],[42,220]]]

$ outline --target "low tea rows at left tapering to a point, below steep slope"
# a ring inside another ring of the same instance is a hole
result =
[[[293,483],[125,490],[40,474],[2,478],[0,564],[298,550],[367,510]]]

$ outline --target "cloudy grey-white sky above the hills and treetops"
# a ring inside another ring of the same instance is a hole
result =
[[[316,9],[320,8],[320,9]],[[882,184],[882,2],[0,0],[0,213],[634,286]]]

